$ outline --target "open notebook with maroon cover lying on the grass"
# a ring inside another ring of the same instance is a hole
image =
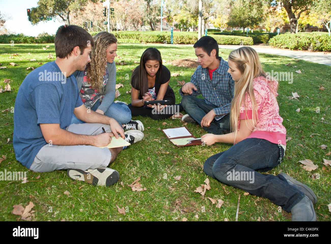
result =
[[[166,134],[168,140],[178,147],[202,144],[201,140],[187,141],[188,139],[194,139],[197,137],[193,136],[186,126],[163,129],[162,131]]]

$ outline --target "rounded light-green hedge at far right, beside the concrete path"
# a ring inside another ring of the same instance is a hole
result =
[[[326,33],[327,34],[327,33]],[[331,51],[331,37],[326,34],[297,33],[279,35],[269,40],[274,47],[291,50]]]

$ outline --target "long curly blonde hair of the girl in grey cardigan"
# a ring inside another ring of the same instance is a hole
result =
[[[113,43],[117,43],[114,34],[103,31],[93,37],[94,46],[90,54],[91,62],[87,64],[87,76],[90,77],[90,83],[93,89],[103,91],[102,80],[105,73],[106,49]]]

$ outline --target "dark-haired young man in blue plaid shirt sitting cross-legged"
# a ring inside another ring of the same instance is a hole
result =
[[[218,44],[212,37],[200,38],[193,47],[200,65],[191,81],[179,89],[181,105],[187,112],[182,121],[197,122],[209,133],[227,133],[234,91],[228,63],[218,56]],[[200,94],[203,98],[197,98]]]

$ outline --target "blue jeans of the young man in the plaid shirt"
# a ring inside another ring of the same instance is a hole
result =
[[[197,98],[192,95],[186,95],[182,98],[180,104],[189,116],[195,120],[198,124],[201,123],[202,118],[209,113],[212,109],[217,108],[213,104],[207,104],[205,99]],[[214,135],[220,135],[224,133],[224,130],[230,129],[230,116],[225,115],[220,120],[213,120],[209,127],[203,126],[204,130]]]

